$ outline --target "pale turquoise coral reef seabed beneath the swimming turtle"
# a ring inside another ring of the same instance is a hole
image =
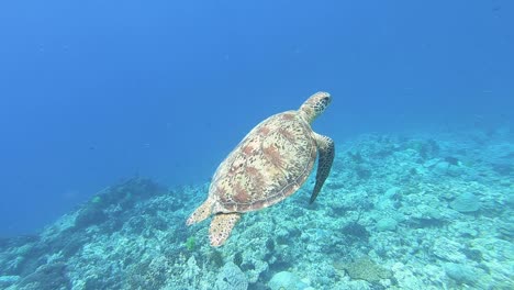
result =
[[[208,183],[114,183],[42,232],[0,241],[2,289],[512,289],[509,126],[337,141],[310,179],[226,244],[187,227]]]

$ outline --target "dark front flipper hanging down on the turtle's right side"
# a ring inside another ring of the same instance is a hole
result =
[[[316,172],[316,183],[314,185],[314,190],[312,191],[311,200],[309,203],[313,203],[316,200],[317,194],[320,193],[323,183],[325,182],[328,174],[331,172],[332,163],[334,161],[335,146],[334,141],[327,136],[323,136],[314,133],[314,138],[317,143],[317,152],[320,157],[317,159],[317,172]]]

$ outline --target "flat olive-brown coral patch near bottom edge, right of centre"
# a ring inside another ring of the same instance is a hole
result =
[[[348,272],[348,276],[354,280],[366,280],[368,282],[378,282],[380,279],[389,279],[392,277],[390,270],[380,267],[369,257],[362,257],[349,264],[335,265]]]

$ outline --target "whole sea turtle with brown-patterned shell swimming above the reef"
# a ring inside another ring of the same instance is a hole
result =
[[[319,155],[312,203],[331,171],[334,142],[313,132],[311,123],[329,102],[329,93],[316,92],[299,110],[275,114],[255,126],[220,164],[208,199],[189,216],[187,225],[214,214],[209,237],[212,246],[221,246],[241,214],[294,193],[308,179]]]

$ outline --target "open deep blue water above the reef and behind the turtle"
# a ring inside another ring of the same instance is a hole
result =
[[[512,124],[512,1],[3,1],[0,236],[134,175],[205,182],[317,90],[336,141]]]

